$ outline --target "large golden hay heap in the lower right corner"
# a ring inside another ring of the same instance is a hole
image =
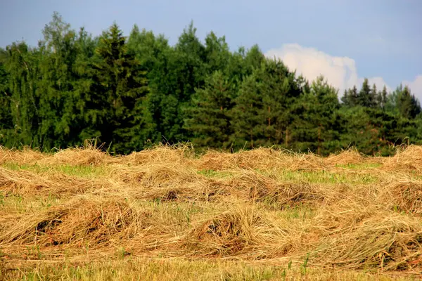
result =
[[[343,268],[421,268],[422,225],[384,207],[342,200],[314,218],[314,261]],[[416,262],[415,262],[416,261]]]

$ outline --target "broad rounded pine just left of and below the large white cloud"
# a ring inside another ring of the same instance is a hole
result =
[[[288,146],[289,124],[294,119],[290,110],[298,96],[300,87],[294,73],[280,61],[264,60],[243,81],[236,98],[232,121],[236,145]]]

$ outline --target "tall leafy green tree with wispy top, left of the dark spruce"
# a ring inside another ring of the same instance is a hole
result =
[[[74,124],[73,67],[77,58],[77,36],[70,25],[54,13],[53,20],[44,27],[44,40],[39,43],[39,75],[36,97],[38,100],[39,145],[45,149],[77,145],[79,138]]]

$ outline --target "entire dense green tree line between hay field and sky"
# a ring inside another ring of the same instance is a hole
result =
[[[119,154],[189,141],[198,149],[276,145],[327,155],[354,146],[390,155],[393,145],[422,143],[421,105],[407,86],[389,92],[364,79],[361,89],[338,93],[257,45],[230,51],[214,32],[201,42],[192,23],[174,46],[136,25],[129,37],[116,23],[92,37],[58,13],[42,32],[36,47],[0,48],[0,144],[9,148],[96,138]]]

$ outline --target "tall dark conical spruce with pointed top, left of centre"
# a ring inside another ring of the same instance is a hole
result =
[[[94,79],[108,105],[101,141],[113,143],[115,152],[140,150],[146,141],[139,134],[143,122],[138,119],[147,93],[146,72],[127,52],[126,40],[116,23],[103,32],[96,53]]]

